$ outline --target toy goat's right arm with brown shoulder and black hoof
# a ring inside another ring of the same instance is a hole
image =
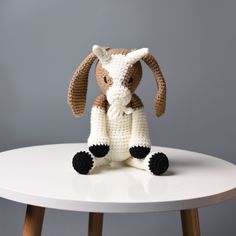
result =
[[[142,101],[135,94],[131,101],[131,107],[134,109],[134,112],[132,113],[132,131],[129,141],[129,151],[132,157],[142,159],[150,152],[151,141]]]

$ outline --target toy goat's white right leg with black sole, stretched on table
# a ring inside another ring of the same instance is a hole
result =
[[[130,157],[125,163],[129,166],[146,170],[154,175],[163,174],[169,167],[167,156],[161,152],[150,153],[145,159]]]

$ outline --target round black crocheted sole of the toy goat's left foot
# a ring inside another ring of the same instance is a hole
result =
[[[72,160],[74,169],[82,175],[88,174],[93,164],[93,158],[88,152],[77,152]]]

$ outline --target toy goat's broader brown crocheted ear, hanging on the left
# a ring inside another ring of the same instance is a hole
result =
[[[67,101],[74,116],[80,117],[84,114],[89,70],[96,58],[94,53],[90,53],[76,69],[71,79]]]

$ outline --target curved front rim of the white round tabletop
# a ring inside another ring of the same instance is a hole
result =
[[[15,191],[1,189],[1,196],[7,200],[41,206],[50,209],[80,211],[80,212],[104,212],[104,213],[147,213],[179,211],[191,208],[201,208],[222,203],[236,197],[236,188],[218,194],[193,198],[187,200],[165,201],[165,202],[89,202],[73,201],[65,199],[50,199],[29,194],[17,193]],[[28,200],[25,200],[28,198]],[[138,207],[137,207],[138,206]]]

